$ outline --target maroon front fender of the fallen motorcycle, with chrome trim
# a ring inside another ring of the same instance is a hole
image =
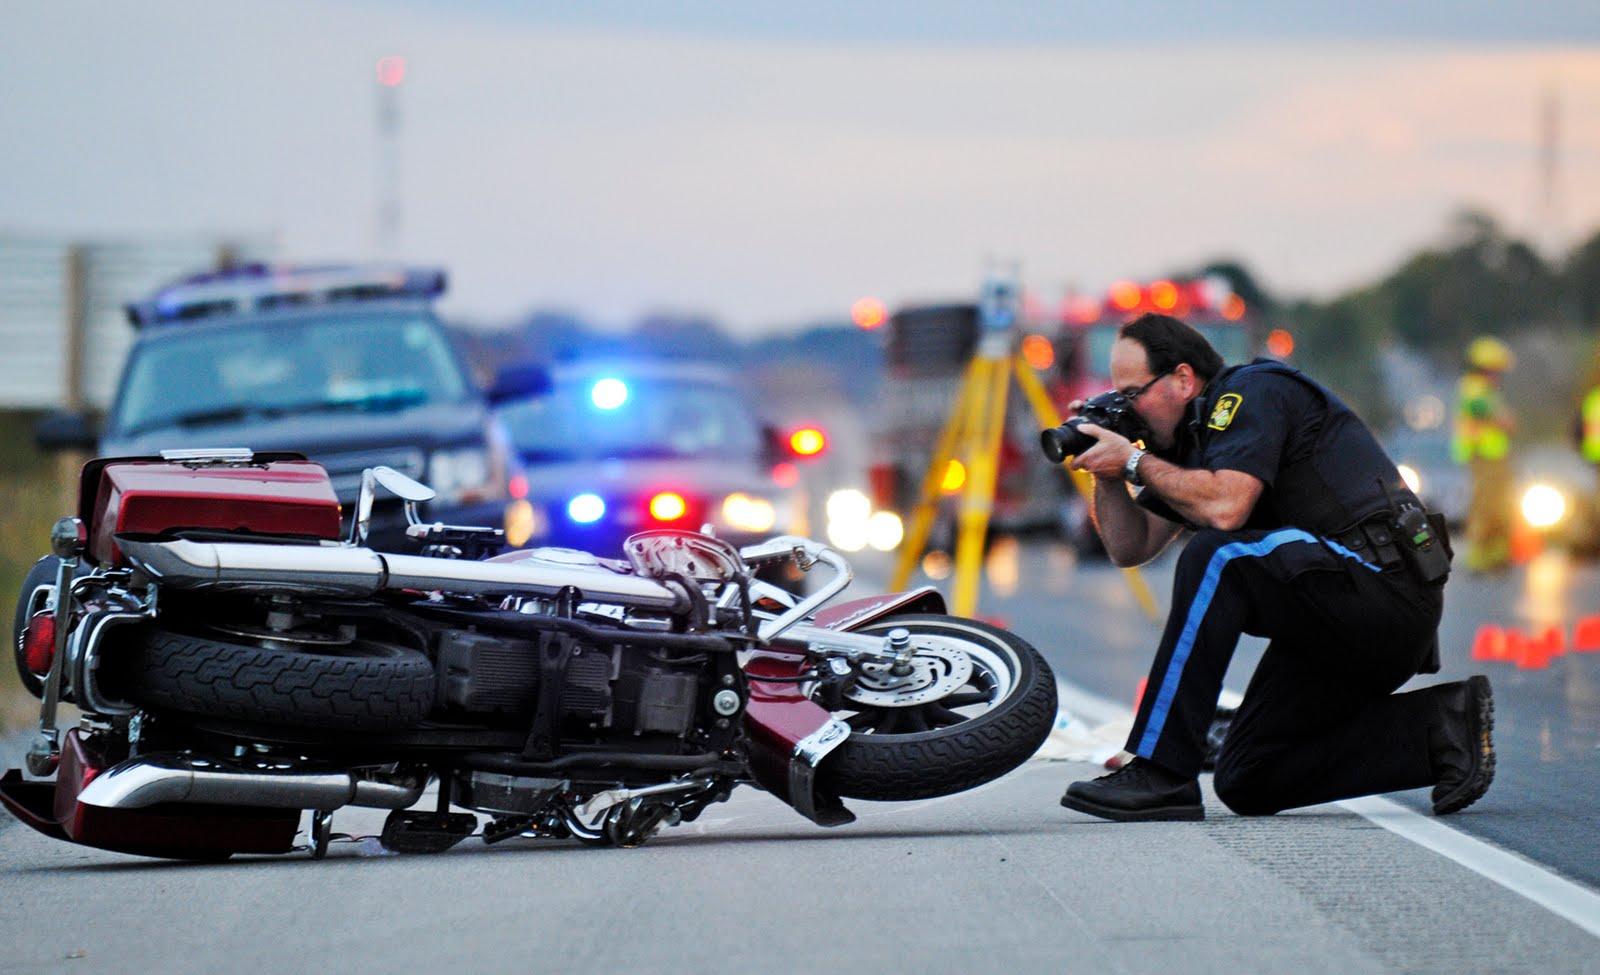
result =
[[[856,817],[818,783],[818,765],[850,736],[850,725],[800,692],[800,684],[762,680],[795,677],[808,661],[798,653],[757,650],[744,664],[750,700],[744,709],[750,773],[818,826],[843,826]]]

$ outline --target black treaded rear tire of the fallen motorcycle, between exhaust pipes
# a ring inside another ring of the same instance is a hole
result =
[[[434,664],[390,644],[323,655],[146,629],[120,661],[136,704],[242,722],[349,732],[416,727],[434,706]]]

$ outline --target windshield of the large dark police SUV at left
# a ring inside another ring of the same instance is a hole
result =
[[[128,363],[112,423],[117,435],[296,413],[397,411],[461,402],[470,389],[443,333],[418,315],[160,328],[163,335]]]

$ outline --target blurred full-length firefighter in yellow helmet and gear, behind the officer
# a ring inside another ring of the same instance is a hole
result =
[[[1467,373],[1456,395],[1456,435],[1451,443],[1458,464],[1472,475],[1467,509],[1467,568],[1491,572],[1510,564],[1514,418],[1501,395],[1501,376],[1515,365],[1506,343],[1477,338],[1467,346]]]

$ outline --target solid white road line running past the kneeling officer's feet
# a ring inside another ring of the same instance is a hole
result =
[[[1082,714],[1088,720],[1109,724],[1133,716],[1130,708],[1066,680],[1056,680],[1056,693],[1064,711]],[[1582,884],[1382,796],[1344,799],[1333,805],[1342,805],[1402,839],[1453,860],[1600,938],[1600,893]]]

